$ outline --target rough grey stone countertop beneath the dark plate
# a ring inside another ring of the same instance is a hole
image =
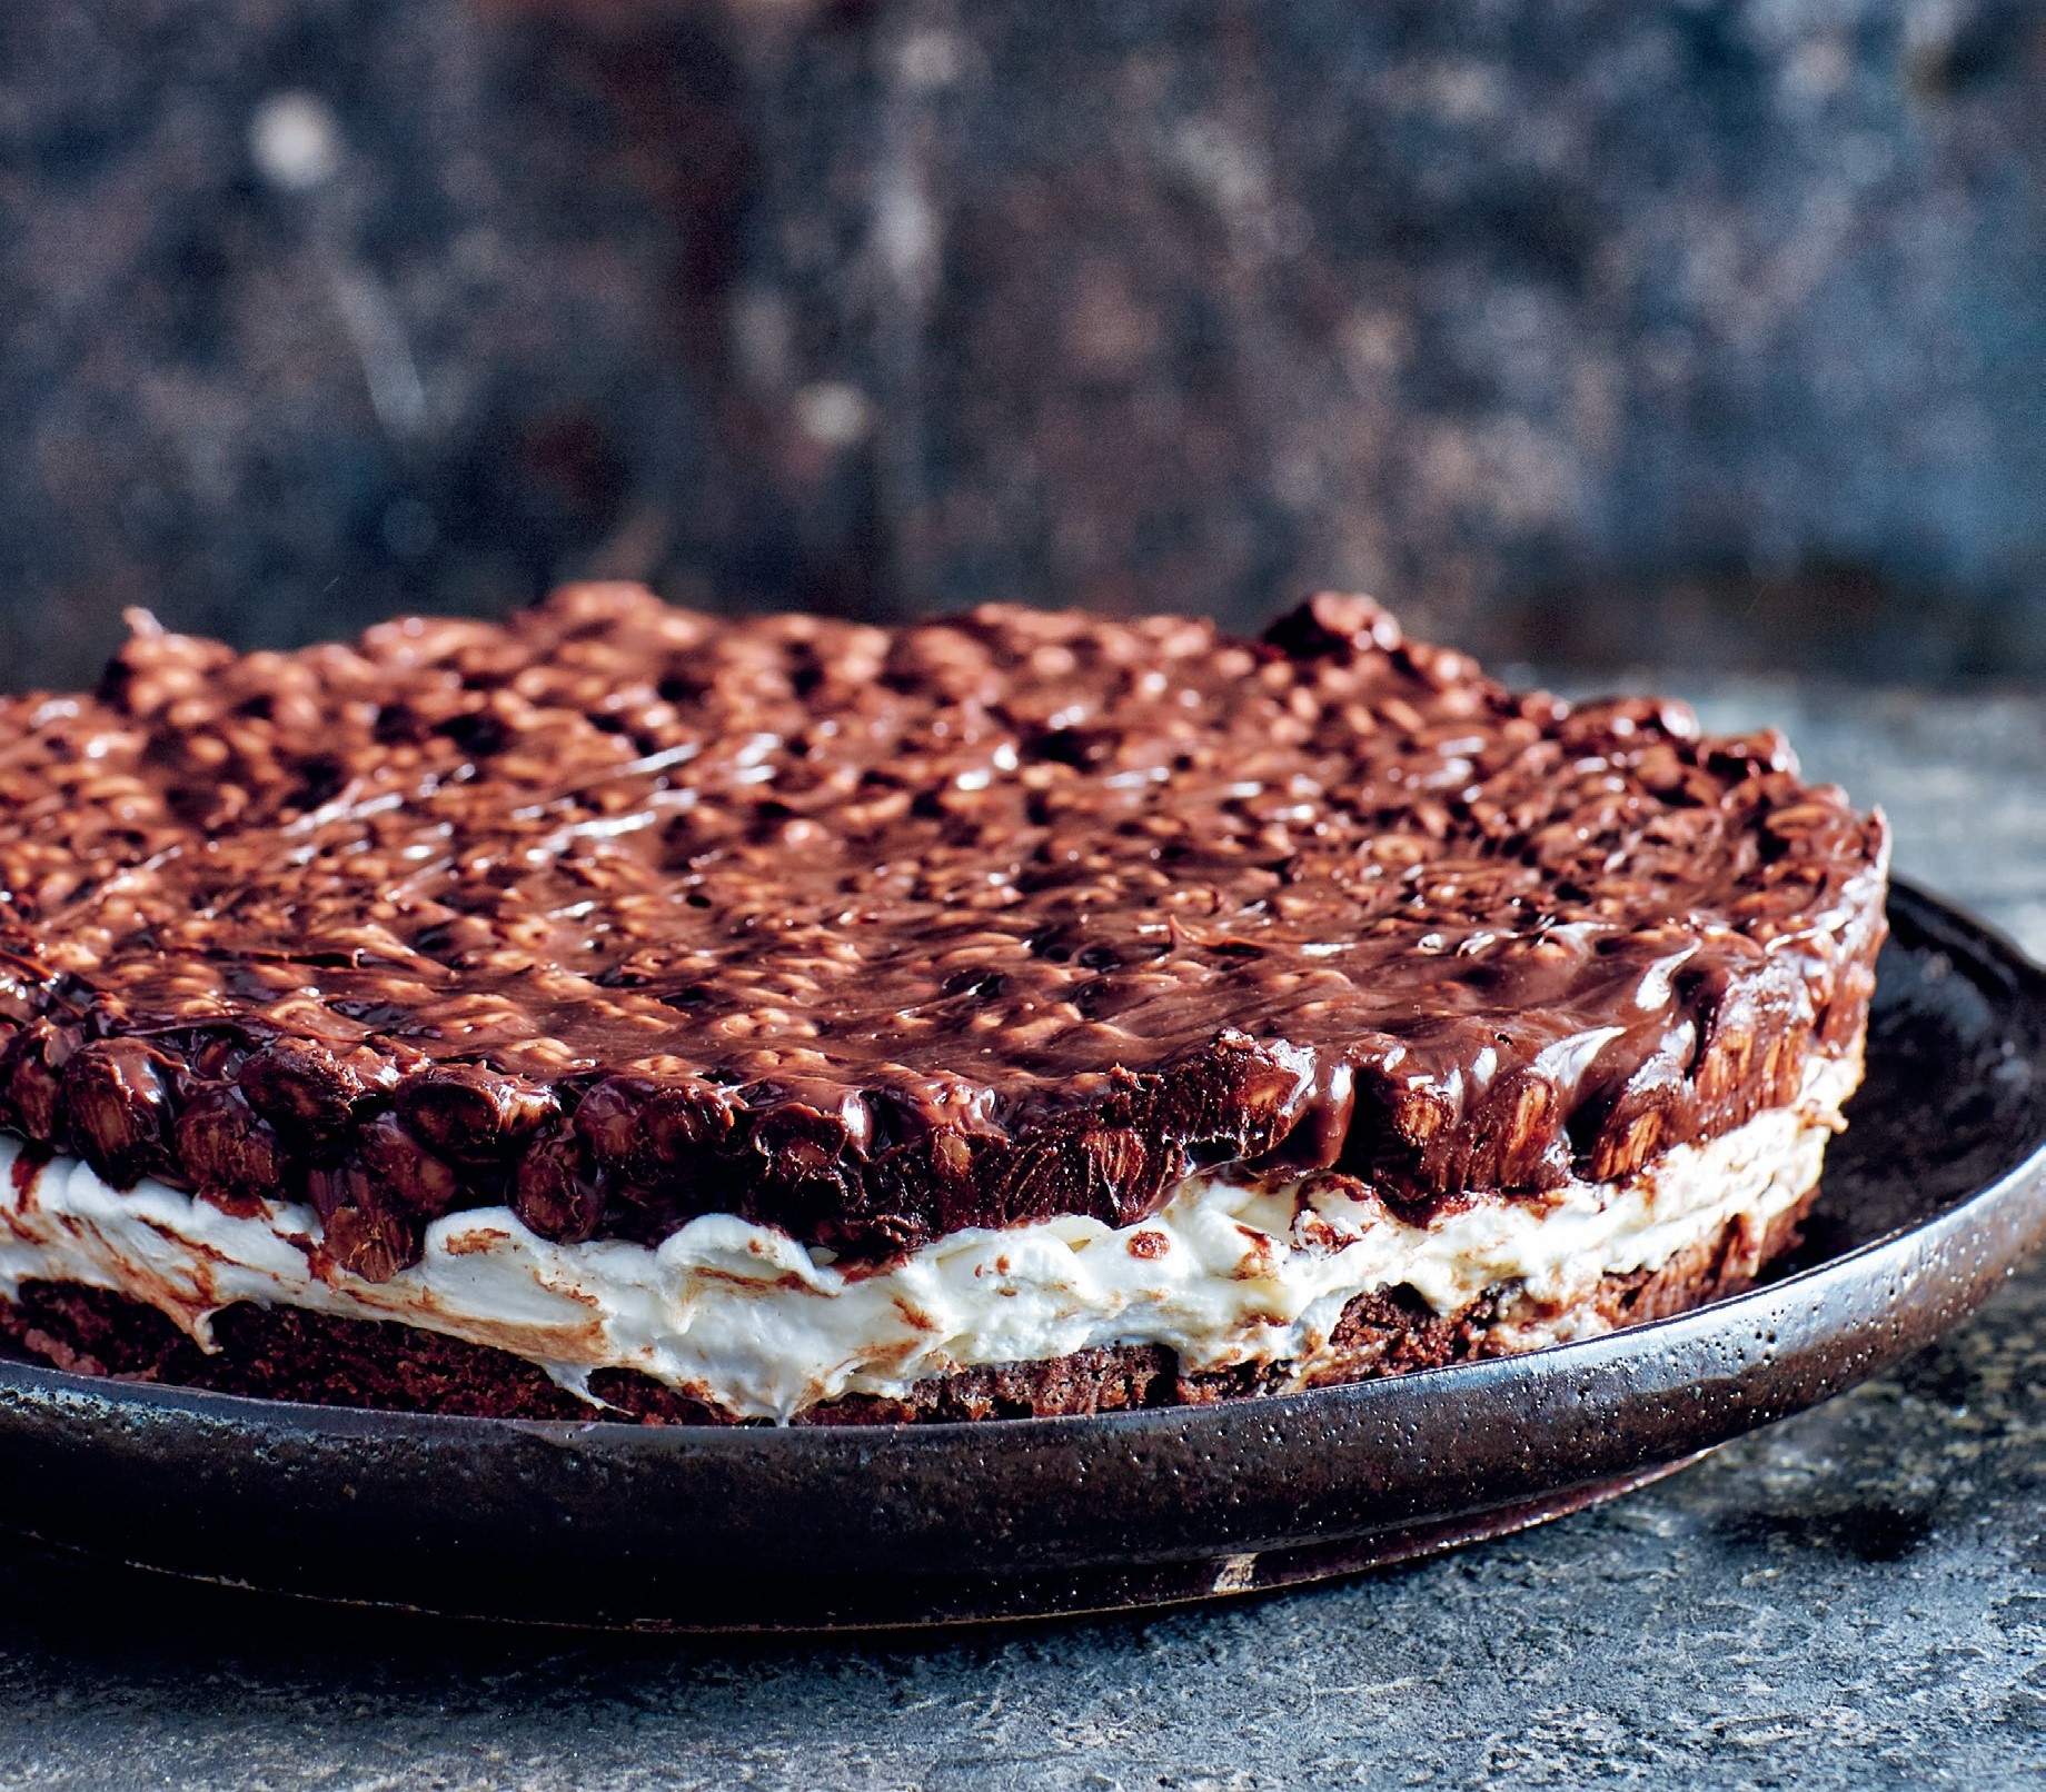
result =
[[[2046,702],[1719,685],[2046,955]],[[507,1565],[511,1569],[516,1565]],[[581,1641],[0,1544],[0,1784],[2003,1786],[2046,1763],[2046,1264],[1895,1375],[1346,1585],[906,1645]]]

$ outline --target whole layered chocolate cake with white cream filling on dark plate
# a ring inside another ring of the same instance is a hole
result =
[[[1774,734],[1260,640],[581,585],[0,702],[0,1330],[358,1405],[1277,1393],[1751,1281],[1886,841]]]

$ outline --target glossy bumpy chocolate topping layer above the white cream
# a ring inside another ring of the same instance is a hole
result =
[[[362,1274],[456,1207],[888,1256],[1191,1166],[1608,1178],[1854,1049],[1880,816],[1776,734],[1264,640],[581,585],[0,700],[0,1123]]]

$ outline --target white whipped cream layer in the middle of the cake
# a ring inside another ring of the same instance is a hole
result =
[[[113,1289],[205,1348],[211,1315],[235,1301],[397,1319],[524,1356],[585,1395],[591,1371],[630,1369],[767,1420],[1107,1344],[1166,1344],[1189,1371],[1279,1362],[1305,1379],[1350,1299],[1379,1289],[1410,1287],[1455,1313],[1510,1287],[1510,1348],[1602,1330],[1571,1305],[1602,1276],[1655,1270],[1733,1219],[1766,1227],[1794,1207],[1858,1080],[1858,1060],[1817,1058],[1790,1107],[1625,1180],[1485,1197],[1426,1225],[1344,1178],[1201,1174],[1136,1225],[974,1227],[882,1268],[839,1268],[722,1213],[659,1246],[565,1246],[497,1207],[436,1221],[417,1264],[370,1283],[327,1258],[309,1207],[233,1215],[147,1180],[123,1193],[78,1158],[16,1170],[20,1144],[0,1139],[12,1172],[0,1180],[0,1295],[25,1281]]]

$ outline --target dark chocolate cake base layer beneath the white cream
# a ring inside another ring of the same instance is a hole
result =
[[[843,1395],[794,1422],[929,1424],[1199,1405],[1498,1356],[1539,1342],[1530,1334],[1541,1330],[1588,1336],[1739,1293],[1796,1246],[1813,1199],[1807,1195],[1760,1231],[1731,1219],[1661,1268],[1608,1274],[1563,1309],[1537,1309],[1510,1287],[1447,1315],[1408,1289],[1359,1295],[1328,1352],[1305,1373],[1289,1362],[1189,1373],[1172,1350],[1131,1344],[964,1369],[919,1383],[906,1399]],[[0,1354],[82,1375],[383,1412],[735,1424],[722,1409],[630,1371],[589,1377],[591,1393],[606,1403],[599,1409],[520,1356],[413,1326],[233,1305],[215,1315],[213,1336],[219,1348],[201,1350],[155,1307],[70,1283],[25,1283],[14,1301],[0,1301]]]

